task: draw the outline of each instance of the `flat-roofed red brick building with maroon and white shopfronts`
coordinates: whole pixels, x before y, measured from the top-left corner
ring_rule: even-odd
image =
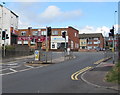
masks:
[[[66,40],[62,37],[62,32],[66,32]],[[28,45],[31,48],[46,49],[46,29],[19,29],[17,31],[18,44]],[[51,36],[47,39],[47,48],[49,50],[64,50],[65,42],[67,48],[72,50],[79,49],[79,31],[73,27],[52,28]]]

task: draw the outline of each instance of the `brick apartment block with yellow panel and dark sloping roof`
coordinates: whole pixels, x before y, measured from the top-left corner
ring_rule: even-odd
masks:
[[[80,51],[96,51],[104,48],[104,37],[102,33],[79,34]]]

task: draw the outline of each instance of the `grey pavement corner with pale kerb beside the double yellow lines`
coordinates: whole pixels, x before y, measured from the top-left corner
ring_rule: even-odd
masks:
[[[102,62],[97,65],[95,68],[84,72],[81,75],[81,79],[89,85],[93,85],[95,87],[102,87],[106,89],[117,90],[120,92],[120,85],[117,83],[111,83],[105,81],[106,74],[115,66],[110,62]]]

